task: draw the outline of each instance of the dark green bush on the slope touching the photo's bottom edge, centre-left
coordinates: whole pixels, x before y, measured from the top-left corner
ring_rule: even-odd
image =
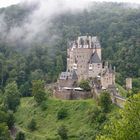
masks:
[[[59,126],[57,133],[61,137],[62,140],[68,139],[68,130],[64,125]]]

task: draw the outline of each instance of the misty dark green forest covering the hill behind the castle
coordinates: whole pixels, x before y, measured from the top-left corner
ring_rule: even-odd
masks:
[[[20,34],[37,5],[14,5],[2,8],[4,29],[0,30],[0,82],[3,87],[16,80],[18,86],[33,79],[53,82],[66,69],[69,40],[78,35],[96,35],[103,50],[103,59],[116,66],[118,82],[140,76],[140,8],[121,3],[91,3],[88,9],[65,11],[45,20],[30,41],[29,33]],[[30,25],[30,24],[29,24]],[[32,27],[30,27],[32,28]],[[13,34],[16,33],[14,36]],[[15,40],[10,40],[12,37]],[[20,38],[18,38],[20,36]],[[10,39],[9,39],[10,38]],[[13,39],[12,38],[12,39]]]

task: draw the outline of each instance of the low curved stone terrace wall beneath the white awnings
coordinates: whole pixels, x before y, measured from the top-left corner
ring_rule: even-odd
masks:
[[[78,100],[92,98],[91,92],[75,91],[75,90],[54,90],[54,97],[65,100]]]

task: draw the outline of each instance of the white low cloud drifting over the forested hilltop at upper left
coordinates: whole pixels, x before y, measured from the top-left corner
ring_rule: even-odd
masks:
[[[49,36],[49,28],[53,27],[51,19],[54,16],[70,12],[79,12],[89,7],[90,0],[22,0],[20,6],[37,5],[22,25],[12,26],[10,29],[4,22],[4,15],[0,18],[0,33],[2,38],[11,45],[16,43],[30,44],[37,40],[42,41]],[[7,32],[8,30],[8,32]],[[53,35],[52,38],[55,38]]]

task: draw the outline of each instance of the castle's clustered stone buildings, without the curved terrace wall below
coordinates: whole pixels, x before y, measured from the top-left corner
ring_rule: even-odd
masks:
[[[60,87],[73,87],[76,80],[98,78],[102,88],[115,85],[115,69],[102,61],[101,44],[98,38],[80,36],[69,43],[67,71],[59,77]]]

